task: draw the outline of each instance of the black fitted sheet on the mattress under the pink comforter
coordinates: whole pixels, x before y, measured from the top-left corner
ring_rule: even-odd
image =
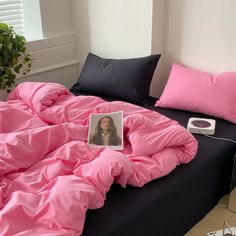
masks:
[[[155,101],[150,97],[141,105],[177,120],[184,127],[190,117],[213,118],[156,108]],[[216,120],[215,136],[236,140],[236,125],[213,119]],[[127,186],[123,189],[113,184],[105,205],[98,210],[88,210],[82,235],[183,236],[187,233],[229,192],[236,153],[236,144],[232,142],[194,136],[199,148],[193,161],[142,188]]]

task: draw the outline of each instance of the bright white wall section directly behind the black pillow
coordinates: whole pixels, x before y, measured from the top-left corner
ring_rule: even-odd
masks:
[[[151,54],[152,0],[74,0],[73,10],[81,64],[88,52],[106,58]]]

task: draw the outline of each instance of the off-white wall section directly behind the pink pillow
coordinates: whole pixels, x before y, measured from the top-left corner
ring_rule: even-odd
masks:
[[[236,71],[235,9],[235,0],[167,0],[163,79],[173,61],[209,73]]]

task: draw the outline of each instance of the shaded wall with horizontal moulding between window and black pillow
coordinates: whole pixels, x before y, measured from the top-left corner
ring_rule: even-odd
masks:
[[[57,82],[70,88],[79,76],[71,0],[40,0],[43,39],[27,42],[32,71],[20,81]]]

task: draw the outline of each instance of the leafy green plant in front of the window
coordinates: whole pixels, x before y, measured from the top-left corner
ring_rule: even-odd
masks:
[[[7,90],[16,84],[17,74],[31,70],[32,59],[26,53],[26,40],[12,26],[0,22],[0,89]]]

